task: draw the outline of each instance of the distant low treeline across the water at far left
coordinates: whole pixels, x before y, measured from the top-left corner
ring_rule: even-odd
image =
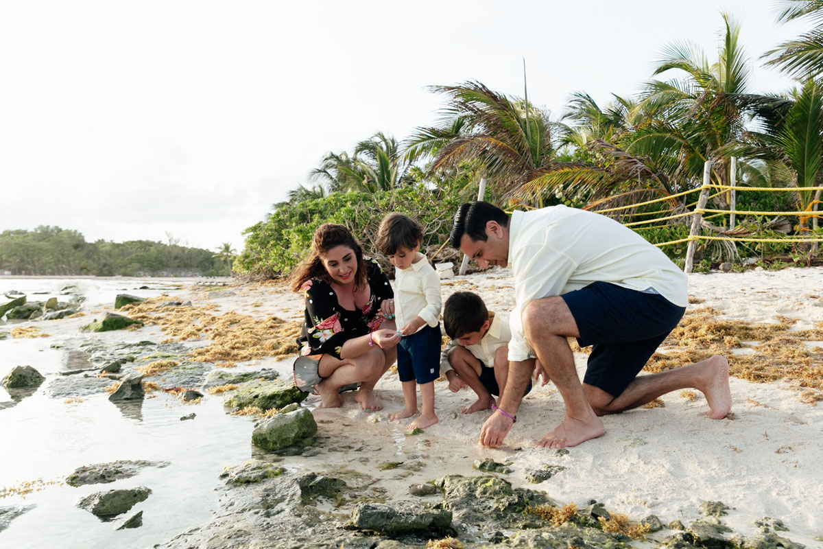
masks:
[[[207,249],[170,242],[86,242],[77,230],[39,226],[0,233],[0,274],[97,275],[99,277],[228,276],[222,258]]]

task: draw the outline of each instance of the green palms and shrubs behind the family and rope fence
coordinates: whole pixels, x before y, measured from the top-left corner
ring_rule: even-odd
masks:
[[[615,95],[602,107],[584,91],[574,92],[557,120],[523,98],[491,91],[477,81],[433,86],[446,103],[438,123],[417,128],[405,142],[376,133],[351,153],[328,152],[288,202],[273,206],[266,221],[246,231],[235,272],[249,277],[287,275],[308,252],[324,222],[347,226],[374,254],[380,219],[403,212],[424,226],[425,246],[439,246],[459,203],[472,200],[481,177],[486,200],[508,208],[563,203],[593,210],[635,205],[611,212],[635,225],[654,244],[685,239],[695,190],[711,161],[710,183],[733,180],[737,211],[808,212],[808,215],[707,215],[704,235],[783,239],[821,235],[818,208],[823,186],[823,2],[783,0],[778,21],[805,20],[815,27],[767,52],[765,64],[796,78],[788,93],[751,86],[751,58],[739,41],[740,27],[723,14],[714,54],[688,41],[661,51],[652,78],[633,97]],[[732,173],[732,158],[737,171]],[[746,192],[746,187],[786,188]],[[640,206],[656,198],[663,202]],[[727,210],[731,194],[713,191],[708,209]],[[676,218],[680,216],[679,218]],[[670,218],[671,219],[667,219]],[[741,256],[780,256],[809,264],[817,245],[735,243],[701,240],[695,270]],[[663,251],[683,263],[686,243]],[[431,250],[429,250],[431,251]],[[445,260],[441,253],[439,260]],[[774,264],[774,263],[771,263]]]

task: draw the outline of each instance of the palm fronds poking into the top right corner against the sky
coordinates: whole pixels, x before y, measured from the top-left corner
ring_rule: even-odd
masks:
[[[798,79],[816,78],[823,74],[823,1],[783,0],[778,22],[806,19],[815,27],[794,40],[783,42],[766,52],[766,65],[779,69]]]

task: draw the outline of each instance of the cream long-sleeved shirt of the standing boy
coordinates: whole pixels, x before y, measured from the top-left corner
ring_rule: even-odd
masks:
[[[432,328],[440,323],[440,306],[443,304],[440,277],[425,254],[421,256],[408,268],[394,269],[394,315],[398,329],[418,316]],[[417,332],[423,328],[425,324],[417,328]]]

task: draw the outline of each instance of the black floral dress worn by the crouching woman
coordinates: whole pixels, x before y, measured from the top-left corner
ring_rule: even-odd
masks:
[[[343,343],[380,327],[383,322],[383,318],[377,316],[380,304],[394,297],[394,292],[388,277],[374,259],[365,260],[365,270],[371,297],[360,310],[343,309],[337,303],[332,286],[319,278],[305,281],[300,287],[306,298],[303,332],[297,338],[301,355],[328,353],[339,359]]]

